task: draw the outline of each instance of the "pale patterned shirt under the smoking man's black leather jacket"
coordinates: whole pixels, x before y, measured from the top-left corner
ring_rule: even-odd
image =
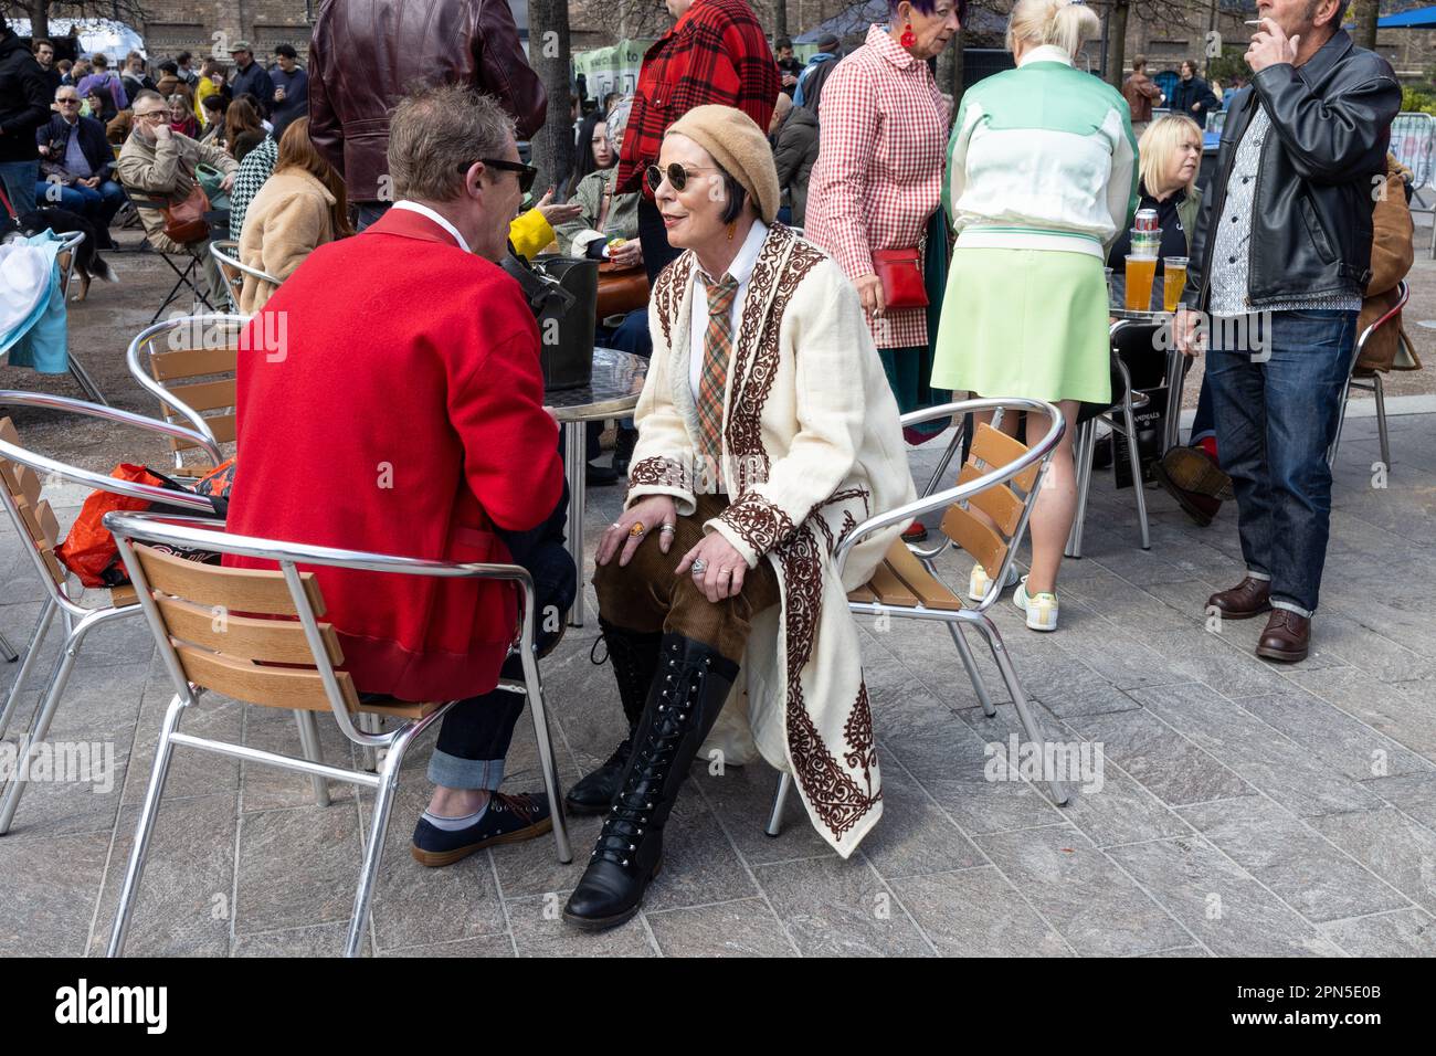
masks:
[[[1235,316],[1254,310],[1251,305],[1251,240],[1252,208],[1256,197],[1256,171],[1261,168],[1261,145],[1271,131],[1267,108],[1252,101],[1256,112],[1236,145],[1232,159],[1232,174],[1226,180],[1226,203],[1216,231],[1211,234],[1208,267],[1212,274],[1212,290],[1208,309],[1212,315]],[[1290,297],[1272,305],[1259,305],[1261,312],[1291,312],[1295,309],[1334,309],[1360,312],[1361,293],[1351,287],[1348,293],[1317,293],[1307,297]]]

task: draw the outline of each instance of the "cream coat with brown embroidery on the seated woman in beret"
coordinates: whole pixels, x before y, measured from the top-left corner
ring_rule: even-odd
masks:
[[[684,253],[649,303],[653,358],[635,420],[628,503],[672,496],[695,510],[698,409],[689,320],[698,261]],[[859,523],[916,497],[898,404],[857,292],[841,269],[774,224],[738,303],[724,401],[722,490],[709,520],[747,559],[771,563],[781,602],[754,618],[742,690],[758,751],[794,776],[813,825],[844,858],[882,816],[873,721],[847,592],[867,582],[903,526],[867,536],[839,582],[834,552]],[[709,488],[711,490],[711,488]]]

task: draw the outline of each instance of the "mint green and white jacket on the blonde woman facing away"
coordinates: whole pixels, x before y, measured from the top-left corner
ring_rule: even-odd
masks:
[[[1127,101],[1034,47],[1017,69],[962,96],[942,207],[958,247],[1088,253],[1107,249],[1137,207],[1137,141]]]

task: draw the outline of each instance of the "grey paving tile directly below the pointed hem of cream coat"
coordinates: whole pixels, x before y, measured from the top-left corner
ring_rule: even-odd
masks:
[[[754,872],[804,957],[932,954],[867,862],[823,858]]]

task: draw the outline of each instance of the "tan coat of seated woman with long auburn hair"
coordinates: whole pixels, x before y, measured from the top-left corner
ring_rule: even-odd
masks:
[[[244,213],[240,261],[284,282],[310,253],[335,240],[333,205],[335,195],[306,170],[274,172]],[[276,289],[246,274],[240,312],[258,312]]]

